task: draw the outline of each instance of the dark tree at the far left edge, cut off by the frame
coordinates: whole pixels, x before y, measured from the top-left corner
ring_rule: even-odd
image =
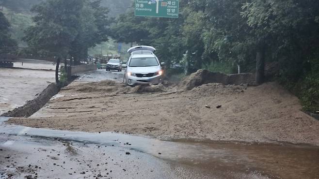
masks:
[[[10,24],[2,12],[0,12],[0,54],[8,53],[16,47],[16,41],[11,38]]]

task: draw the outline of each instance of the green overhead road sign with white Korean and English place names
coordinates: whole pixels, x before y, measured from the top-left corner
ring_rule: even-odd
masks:
[[[135,0],[135,15],[178,17],[179,0]]]

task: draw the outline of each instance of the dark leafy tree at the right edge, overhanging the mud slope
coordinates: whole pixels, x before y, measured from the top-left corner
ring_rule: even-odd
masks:
[[[267,37],[280,82],[299,95],[305,110],[318,111],[318,0],[253,0],[243,8],[255,34]]]

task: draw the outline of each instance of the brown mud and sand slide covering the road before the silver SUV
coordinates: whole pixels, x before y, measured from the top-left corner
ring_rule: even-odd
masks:
[[[258,87],[211,83],[183,90],[174,85],[129,87],[119,83],[122,80],[123,72],[85,73],[30,118],[9,122],[160,138],[284,141],[319,146],[319,121],[303,113],[298,98],[276,83]]]

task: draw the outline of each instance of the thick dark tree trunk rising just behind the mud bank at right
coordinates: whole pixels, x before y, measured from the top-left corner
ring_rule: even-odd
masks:
[[[256,53],[256,85],[260,85],[264,82],[265,78],[265,45],[257,47]]]

